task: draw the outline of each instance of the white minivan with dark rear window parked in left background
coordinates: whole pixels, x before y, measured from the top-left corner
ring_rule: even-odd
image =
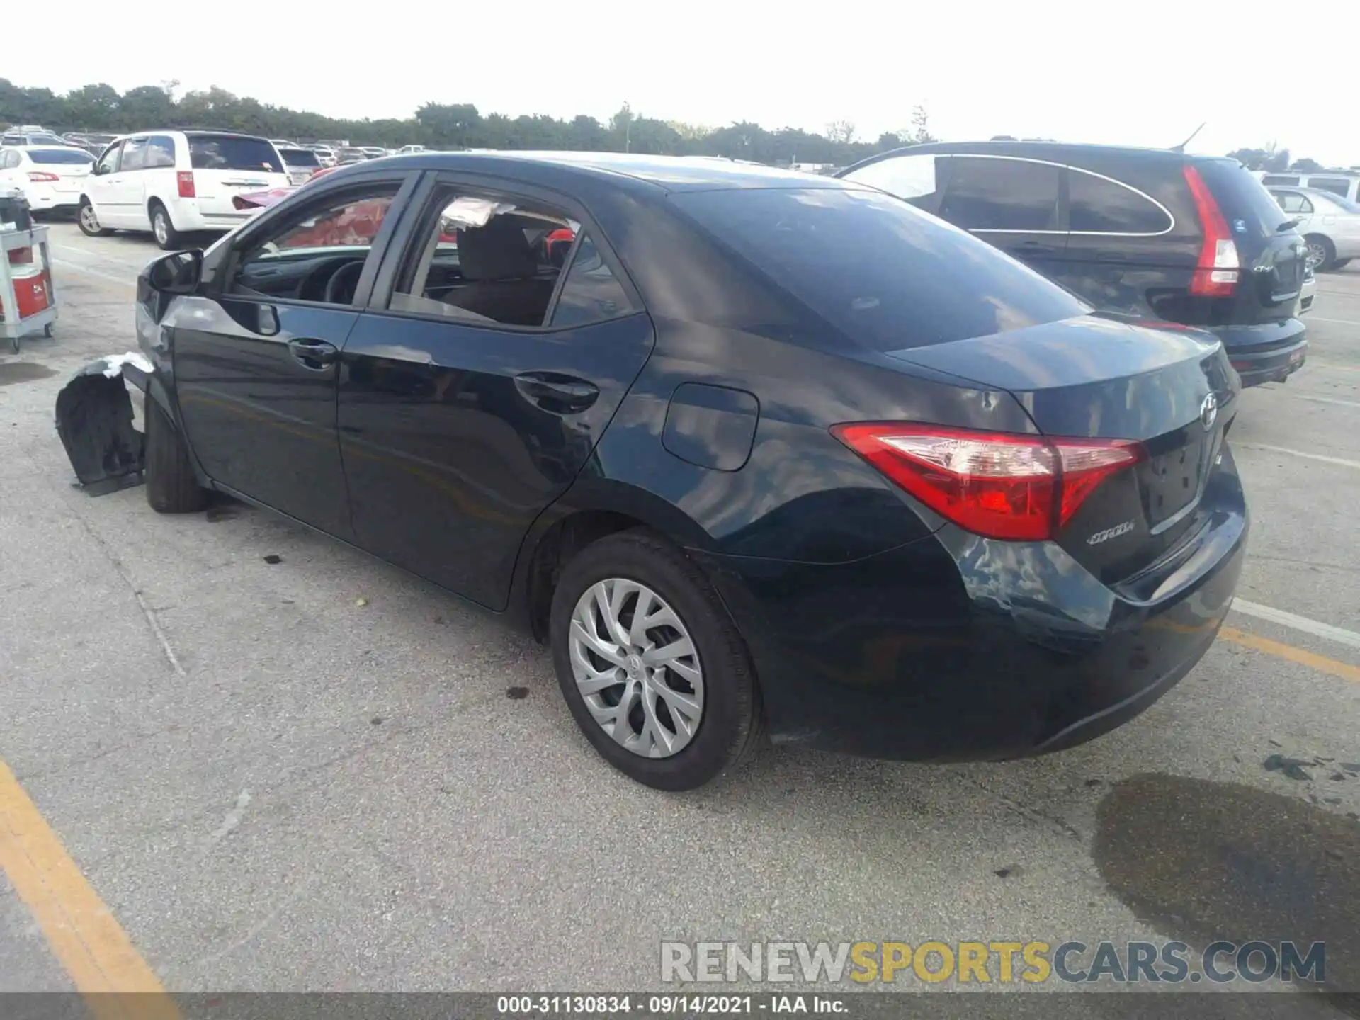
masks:
[[[235,230],[258,212],[238,208],[238,194],[287,186],[268,139],[222,131],[125,135],[86,178],[78,222],[90,237],[147,231],[169,250],[181,246],[181,234]]]

